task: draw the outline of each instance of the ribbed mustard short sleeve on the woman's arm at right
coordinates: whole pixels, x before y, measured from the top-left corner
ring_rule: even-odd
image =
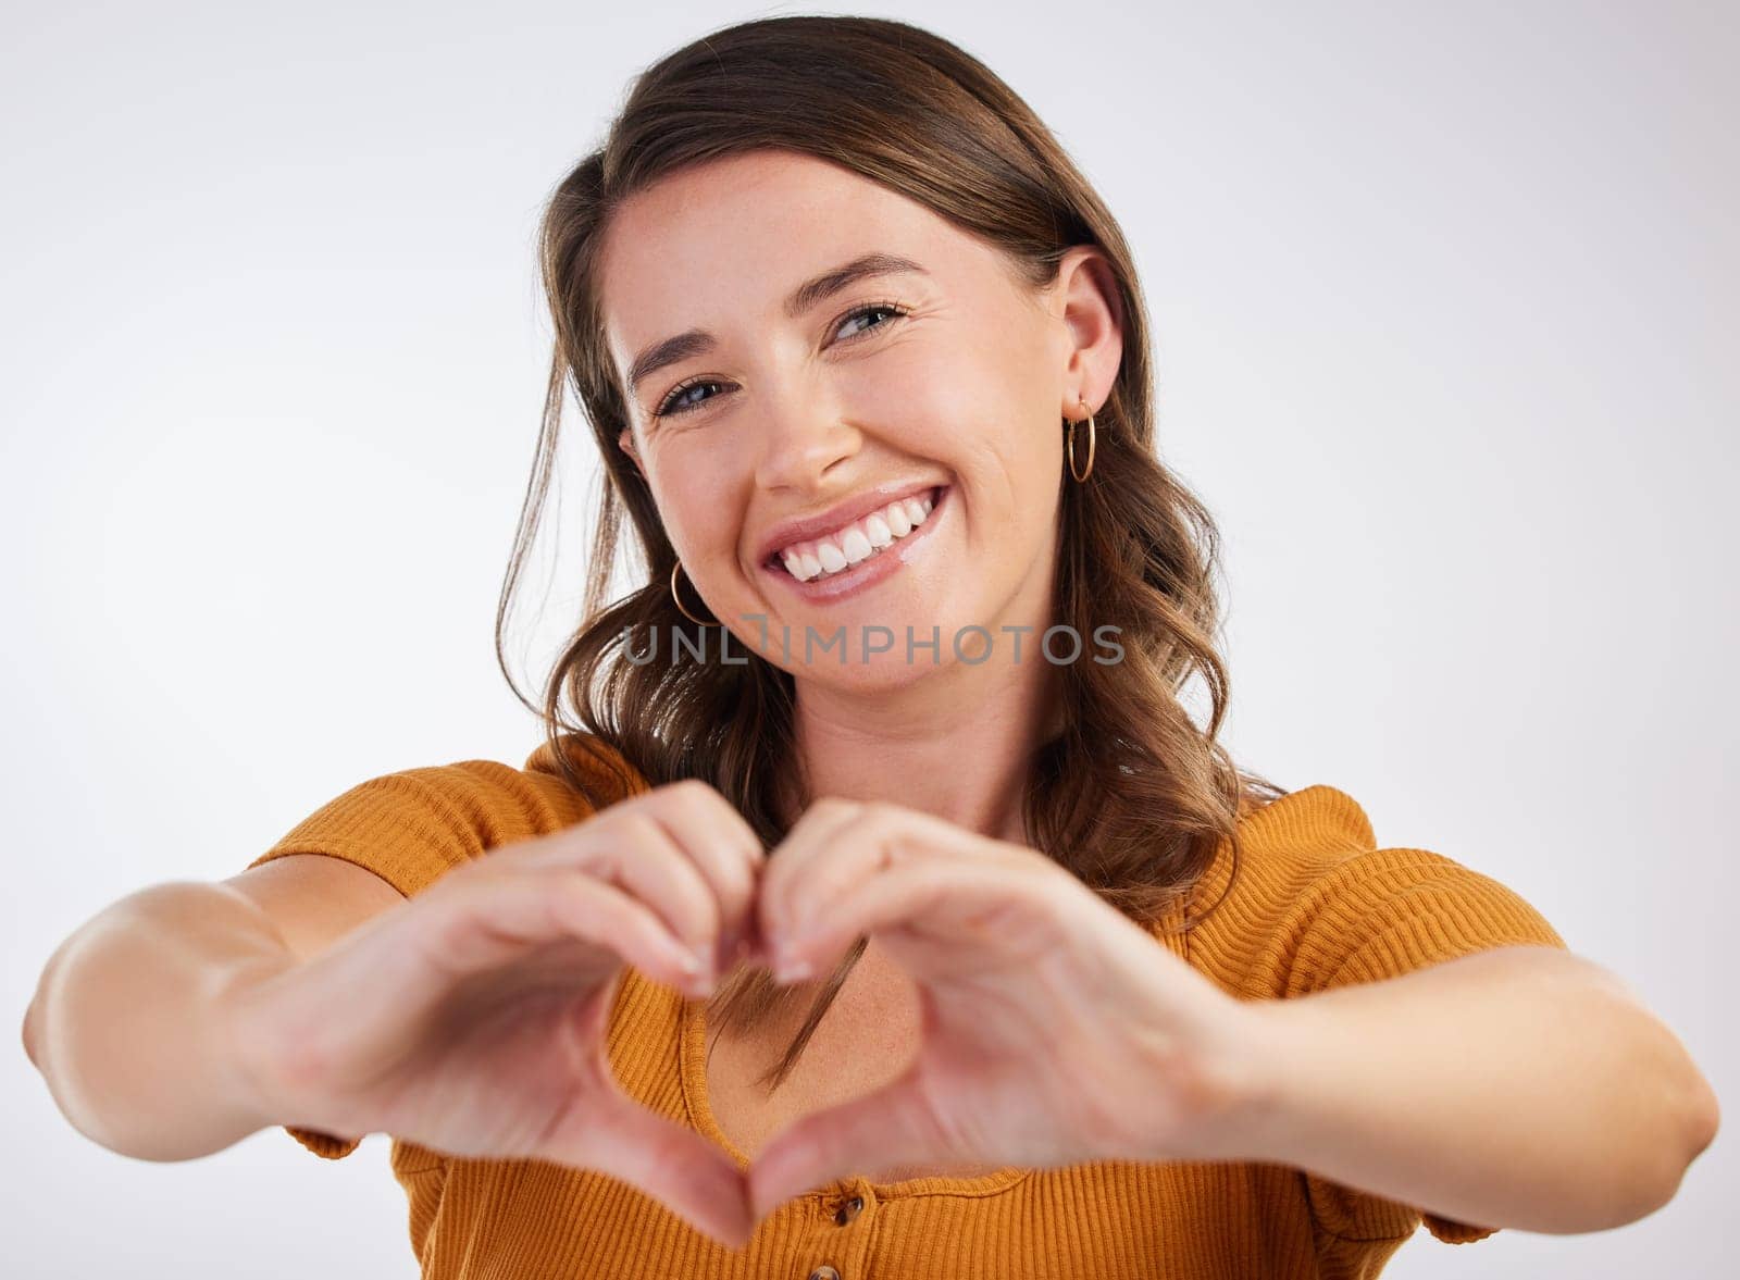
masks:
[[[1568,950],[1521,894],[1442,854],[1373,849],[1336,864],[1305,896],[1288,995],[1378,983],[1502,946]],[[1394,1240],[1422,1223],[1446,1243],[1498,1231],[1302,1172],[1319,1228],[1342,1240]]]

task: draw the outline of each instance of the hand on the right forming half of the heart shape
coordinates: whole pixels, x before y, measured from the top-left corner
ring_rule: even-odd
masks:
[[[826,798],[769,856],[757,910],[776,970],[826,972],[872,934],[922,1010],[901,1077],[757,1153],[757,1221],[905,1163],[1213,1158],[1246,1097],[1255,1012],[1023,845]]]

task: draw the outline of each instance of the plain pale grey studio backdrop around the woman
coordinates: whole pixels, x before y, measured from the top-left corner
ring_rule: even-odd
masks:
[[[541,202],[640,66],[800,10],[5,9],[7,1026],[113,899],[365,777],[524,760],[491,626]],[[856,12],[988,61],[1122,219],[1161,449],[1225,534],[1234,751],[1517,889],[1740,1104],[1735,7]],[[578,602],[566,466],[531,664]],[[416,1273],[385,1136],[139,1162],[10,1043],[7,1275]],[[1420,1231],[1389,1275],[1726,1275],[1733,1150],[1632,1226]]]

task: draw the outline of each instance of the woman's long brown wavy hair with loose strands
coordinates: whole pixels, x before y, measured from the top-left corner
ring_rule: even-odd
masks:
[[[844,165],[919,202],[1007,254],[1035,290],[1054,280],[1072,245],[1098,245],[1108,257],[1124,355],[1096,414],[1089,482],[1060,473],[1054,616],[1077,635],[1114,619],[1124,659],[1058,670],[1063,730],[1034,750],[1023,821],[1034,849],[1133,920],[1152,927],[1173,908],[1188,908],[1221,840],[1237,873],[1239,817],[1286,791],[1242,772],[1216,741],[1228,697],[1216,650],[1218,534],[1202,503],[1155,457],[1148,320],[1129,245],[1032,108],[983,63],[907,23],[783,16],[712,31],[633,80],[604,144],[553,191],[539,256],[555,350],[496,614],[496,657],[510,687],[541,717],[564,777],[595,803],[614,797],[597,795],[593,774],[567,757],[576,746],[599,755],[586,746],[588,734],[651,786],[710,783],[769,849],[785,837],[781,814],[793,812],[781,788],[799,788],[799,810],[809,800],[797,772],[786,671],[753,649],[743,664],[626,657],[628,637],[647,628],[666,637],[682,630],[696,645],[705,637],[672,598],[675,551],[649,487],[616,445],[630,423],[628,398],[604,343],[597,292],[597,254],[623,200],[686,165],[759,148]],[[583,621],[534,704],[508,671],[503,633],[545,508],[567,386],[592,424],[606,490]],[[646,584],[607,602],[625,511]],[[1202,677],[1211,697],[1206,729],[1181,701],[1192,675]],[[616,774],[625,788],[635,784]],[[781,783],[792,777],[799,781]],[[1206,915],[1185,911],[1181,929]],[[764,1085],[776,1089],[790,1073],[865,943],[860,937],[821,981]],[[708,1021],[720,1030],[783,1021],[800,995],[764,969],[740,965],[710,998]]]

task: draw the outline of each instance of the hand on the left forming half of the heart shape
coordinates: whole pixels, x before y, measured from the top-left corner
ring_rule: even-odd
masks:
[[[235,991],[228,1035],[256,1113],[604,1170],[740,1245],[752,1219],[738,1167],[621,1090],[606,1030],[625,960],[710,990],[684,963],[724,967],[762,861],[748,823],[703,783],[494,849]]]

